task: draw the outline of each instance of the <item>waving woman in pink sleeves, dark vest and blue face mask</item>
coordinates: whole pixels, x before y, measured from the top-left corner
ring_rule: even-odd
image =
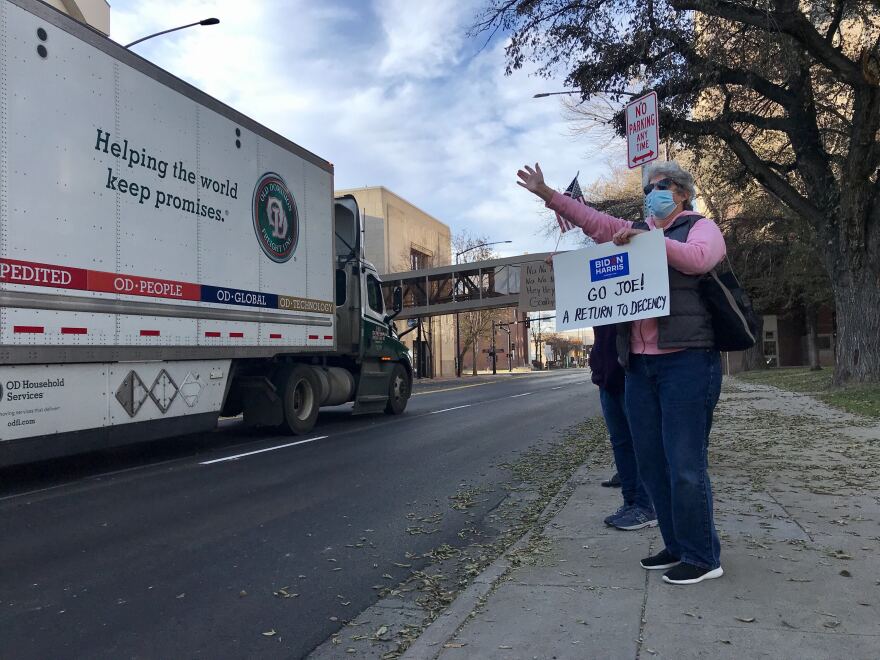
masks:
[[[724,237],[693,212],[694,178],[678,163],[654,162],[642,172],[645,223],[601,213],[555,192],[535,163],[517,183],[597,243],[624,245],[648,230],[664,232],[670,313],[618,324],[618,355],[626,368],[626,408],[639,474],[654,503],[666,547],[641,561],[666,570],[671,584],[721,577],[708,442],[721,393],[721,359],[699,280],[724,258]]]

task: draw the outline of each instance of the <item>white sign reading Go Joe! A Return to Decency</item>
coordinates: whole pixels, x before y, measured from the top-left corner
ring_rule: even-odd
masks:
[[[602,243],[553,257],[556,329],[669,315],[666,240],[659,229],[627,245]]]

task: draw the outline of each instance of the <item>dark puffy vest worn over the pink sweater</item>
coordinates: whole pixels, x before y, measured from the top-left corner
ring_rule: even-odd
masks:
[[[698,213],[682,214],[664,231],[664,236],[685,243],[691,227],[702,218]],[[636,222],[633,229],[650,227]],[[669,268],[669,316],[657,319],[658,348],[715,347],[712,316],[700,295],[702,277]],[[624,367],[629,366],[631,334],[632,322],[617,324],[617,358]]]

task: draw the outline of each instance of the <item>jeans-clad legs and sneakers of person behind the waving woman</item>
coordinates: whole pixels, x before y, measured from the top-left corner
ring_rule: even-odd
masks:
[[[617,529],[633,530],[654,527],[657,516],[645,485],[639,477],[636,454],[633,449],[629,422],[624,405],[623,367],[617,360],[617,328],[602,325],[593,328],[593,346],[590,348],[592,381],[599,386],[602,415],[608,426],[614,464],[620,478],[623,506],[605,518],[605,524]]]

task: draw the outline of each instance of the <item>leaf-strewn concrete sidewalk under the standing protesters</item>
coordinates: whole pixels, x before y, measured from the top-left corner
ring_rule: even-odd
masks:
[[[725,379],[710,460],[721,579],[641,569],[659,532],[606,528],[619,491],[583,467],[403,657],[880,657],[880,424]]]

